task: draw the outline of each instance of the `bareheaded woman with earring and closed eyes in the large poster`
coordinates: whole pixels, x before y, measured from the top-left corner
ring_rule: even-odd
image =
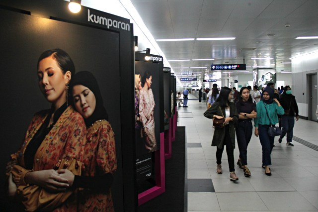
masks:
[[[74,74],[72,59],[61,49],[47,50],[38,59],[39,87],[52,107],[33,116],[6,173],[9,196],[17,197],[26,211],[76,211],[75,189],[56,171],[80,175],[83,168],[86,127],[67,100]]]

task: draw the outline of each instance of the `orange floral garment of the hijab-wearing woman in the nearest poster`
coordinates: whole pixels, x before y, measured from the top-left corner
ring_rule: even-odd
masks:
[[[106,120],[95,121],[87,128],[87,144],[84,150],[84,176],[113,174],[117,169],[115,135]],[[90,189],[79,192],[80,212],[113,212],[111,191],[103,193]]]

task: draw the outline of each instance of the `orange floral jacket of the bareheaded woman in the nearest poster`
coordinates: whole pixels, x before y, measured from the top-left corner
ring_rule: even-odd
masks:
[[[49,110],[41,111],[34,115],[20,151],[11,155],[18,164],[13,166],[11,172],[17,185],[17,195],[21,197],[26,211],[77,211],[75,190],[51,193],[24,182],[24,176],[29,171],[69,169],[73,174],[81,175],[86,127],[82,116],[72,106],[62,113],[39,146],[34,157],[33,170],[23,168],[26,147],[44,123],[48,112]]]

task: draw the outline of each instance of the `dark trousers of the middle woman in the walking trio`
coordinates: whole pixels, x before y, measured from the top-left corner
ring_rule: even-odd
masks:
[[[247,146],[253,133],[251,120],[239,120],[238,126],[236,127],[236,133],[239,146],[239,158],[242,165],[247,165]]]

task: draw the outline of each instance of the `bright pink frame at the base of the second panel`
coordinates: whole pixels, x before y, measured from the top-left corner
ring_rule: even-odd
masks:
[[[165,192],[164,132],[160,132],[160,149],[155,152],[156,186],[138,194],[138,206]]]

